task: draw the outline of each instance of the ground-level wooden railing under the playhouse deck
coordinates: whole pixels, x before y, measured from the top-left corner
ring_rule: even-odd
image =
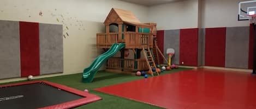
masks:
[[[136,67],[135,67],[135,62]],[[123,63],[123,67],[122,67]],[[120,57],[112,57],[106,64],[108,69],[124,69],[124,70],[147,70],[147,63],[145,59],[121,59]]]

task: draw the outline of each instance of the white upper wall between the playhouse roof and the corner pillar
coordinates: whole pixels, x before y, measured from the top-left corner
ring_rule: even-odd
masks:
[[[197,28],[198,0],[156,5],[149,8],[148,15],[158,30]]]

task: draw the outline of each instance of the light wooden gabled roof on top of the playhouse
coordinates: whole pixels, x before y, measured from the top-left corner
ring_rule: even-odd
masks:
[[[136,18],[131,11],[112,8],[111,11],[109,12],[108,17],[106,17],[106,20],[104,23],[118,22],[118,21],[129,22],[133,24],[140,23],[138,18]]]

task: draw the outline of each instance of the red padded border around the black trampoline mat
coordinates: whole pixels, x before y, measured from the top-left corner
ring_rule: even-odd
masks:
[[[22,83],[19,83],[19,84],[0,85],[0,87],[20,86],[20,85],[35,84],[35,83],[41,83],[41,82],[44,82],[45,84],[53,86],[55,88],[62,89],[63,91],[67,91],[69,93],[80,95],[80,96],[85,97],[85,98],[64,102],[62,104],[42,107],[40,109],[73,108],[73,107],[89,104],[90,102],[94,102],[94,101],[98,101],[98,100],[102,99],[102,98],[98,97],[97,95],[86,93],[86,92],[80,91],[78,89],[74,89],[74,88],[67,87],[67,86],[64,86],[64,85],[55,84],[55,83],[48,82],[48,81],[29,81],[29,82],[22,82]]]

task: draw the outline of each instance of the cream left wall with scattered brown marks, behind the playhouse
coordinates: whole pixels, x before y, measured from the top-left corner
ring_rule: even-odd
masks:
[[[63,39],[63,74],[73,74],[81,73],[103,52],[96,48],[96,33],[105,32],[103,22],[111,8],[130,10],[141,22],[148,22],[147,7],[116,0],[1,0],[0,20],[63,24],[63,34],[69,34]]]

